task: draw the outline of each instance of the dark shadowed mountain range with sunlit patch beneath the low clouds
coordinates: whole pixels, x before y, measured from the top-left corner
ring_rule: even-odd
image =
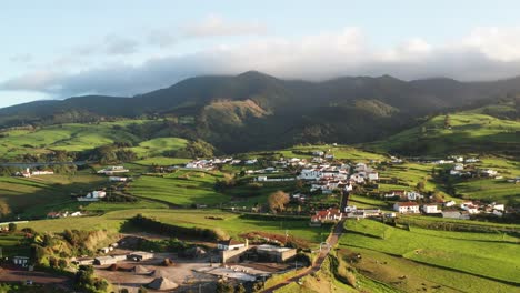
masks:
[[[249,71],[191,78],[133,98],[89,95],[0,109],[0,127],[167,118],[171,123],[149,131],[148,139],[202,139],[231,153],[297,143],[373,141],[414,125],[423,115],[493,103],[517,93],[519,78],[459,82],[382,75],[309,82]],[[513,108],[507,118],[517,113]]]

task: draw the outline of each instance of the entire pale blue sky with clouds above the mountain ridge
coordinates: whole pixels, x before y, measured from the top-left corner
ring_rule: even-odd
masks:
[[[203,74],[520,75],[520,1],[6,0],[0,107]]]

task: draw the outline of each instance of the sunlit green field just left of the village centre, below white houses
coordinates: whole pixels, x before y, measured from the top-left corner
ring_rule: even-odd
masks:
[[[230,196],[216,192],[214,182],[222,178],[219,172],[179,170],[164,176],[142,175],[130,185],[130,193],[179,205],[226,203]]]

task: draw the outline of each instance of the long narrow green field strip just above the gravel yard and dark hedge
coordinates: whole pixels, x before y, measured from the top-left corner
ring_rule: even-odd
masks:
[[[231,236],[238,236],[247,232],[268,232],[284,235],[286,230],[289,235],[302,239],[310,243],[319,243],[329,233],[327,228],[309,228],[307,220],[291,221],[269,221],[252,220],[241,218],[239,214],[223,212],[219,210],[119,210],[108,212],[103,215],[83,218],[63,218],[56,220],[31,221],[27,224],[19,224],[19,228],[30,226],[40,232],[61,232],[64,229],[78,230],[108,230],[119,232],[123,222],[137,214],[151,216],[164,223],[182,226],[198,228],[220,228]],[[209,220],[207,216],[222,218],[223,220]]]

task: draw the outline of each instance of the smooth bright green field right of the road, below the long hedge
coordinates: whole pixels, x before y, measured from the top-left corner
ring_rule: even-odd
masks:
[[[416,228],[406,231],[371,220],[348,221],[346,229],[348,232],[340,241],[344,247],[520,284],[518,238]]]

